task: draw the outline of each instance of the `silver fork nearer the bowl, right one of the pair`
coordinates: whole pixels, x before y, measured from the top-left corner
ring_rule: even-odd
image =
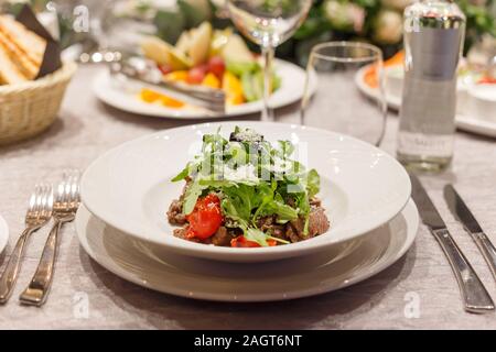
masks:
[[[22,304],[42,306],[46,300],[53,280],[58,232],[64,223],[74,220],[79,207],[79,176],[78,170],[67,170],[57,185],[53,205],[54,224],[46,239],[36,272],[19,297]]]

